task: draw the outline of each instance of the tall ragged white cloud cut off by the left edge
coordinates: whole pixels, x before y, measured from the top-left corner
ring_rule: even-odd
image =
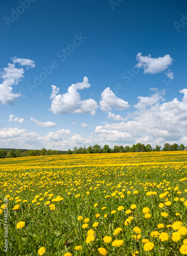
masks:
[[[16,68],[15,64],[18,63],[21,66],[27,66],[34,68],[34,61],[31,59],[20,59],[14,57],[12,59],[13,63],[8,63],[7,68],[3,68],[3,72],[1,73],[1,78],[4,80],[2,84],[0,84],[0,101],[2,104],[11,105],[13,104],[18,97],[21,96],[20,92],[13,93],[12,86],[14,84],[18,84],[18,82],[24,78],[24,69]]]

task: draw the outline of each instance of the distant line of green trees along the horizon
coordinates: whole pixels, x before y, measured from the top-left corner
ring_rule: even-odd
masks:
[[[144,145],[141,143],[133,144],[130,146],[118,146],[115,145],[110,148],[108,145],[101,147],[96,144],[94,146],[88,147],[74,147],[73,150],[70,148],[67,151],[58,150],[46,150],[42,148],[41,150],[20,150],[16,148],[0,148],[0,158],[12,158],[12,157],[29,157],[29,156],[52,156],[52,155],[71,155],[71,154],[97,154],[97,153],[128,153],[128,152],[151,152],[151,151],[183,151],[187,150],[187,146],[183,144],[173,144],[165,143],[163,148],[156,145],[152,148],[150,144]]]

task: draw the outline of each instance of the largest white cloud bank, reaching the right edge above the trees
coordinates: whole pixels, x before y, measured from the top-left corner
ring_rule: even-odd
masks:
[[[174,98],[169,102],[157,102],[149,109],[138,109],[132,120],[107,123],[104,129],[125,131],[135,138],[150,136],[154,141],[179,140],[186,134],[187,89],[179,92],[184,94],[182,101]]]

